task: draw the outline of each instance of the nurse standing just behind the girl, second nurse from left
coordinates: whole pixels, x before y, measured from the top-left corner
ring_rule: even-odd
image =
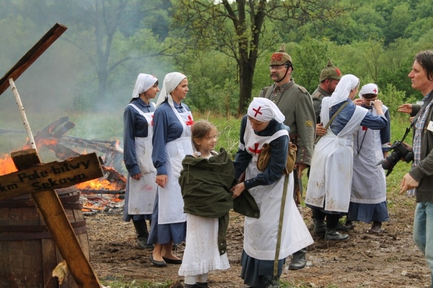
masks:
[[[150,260],[159,267],[182,263],[173,255],[172,246],[184,241],[186,236],[187,218],[183,213],[178,178],[183,158],[193,154],[191,126],[194,120],[189,107],[181,103],[188,91],[185,75],[167,74],[153,117],[152,161],[157,169],[154,181],[158,184],[158,192],[148,243],[155,245]]]

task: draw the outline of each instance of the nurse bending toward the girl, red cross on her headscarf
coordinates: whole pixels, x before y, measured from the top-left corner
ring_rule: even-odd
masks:
[[[245,181],[232,188],[233,197],[248,189],[260,209],[260,218],[245,217],[244,220],[241,277],[251,287],[277,287],[273,265],[290,130],[283,124],[284,120],[275,103],[260,97],[253,99],[248,114],[241,121],[239,148],[233,163],[235,177],[239,179],[245,172]],[[257,159],[265,143],[270,145],[271,156],[266,169],[260,171]],[[287,191],[293,191],[292,173],[288,177]],[[312,243],[310,232],[289,193],[285,202],[276,277],[280,277],[287,256]]]

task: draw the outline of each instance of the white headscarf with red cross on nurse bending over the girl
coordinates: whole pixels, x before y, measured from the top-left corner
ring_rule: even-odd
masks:
[[[277,122],[283,123],[286,119],[274,102],[262,97],[253,98],[248,107],[248,116],[260,122],[268,122],[275,119]]]

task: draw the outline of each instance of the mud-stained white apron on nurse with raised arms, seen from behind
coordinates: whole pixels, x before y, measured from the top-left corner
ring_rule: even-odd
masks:
[[[320,119],[329,122],[331,97],[322,100]],[[367,114],[363,107],[355,105],[355,112],[338,135],[330,128],[314,147],[305,203],[327,211],[349,210],[353,167],[353,132]],[[325,204],[325,205],[323,205]]]

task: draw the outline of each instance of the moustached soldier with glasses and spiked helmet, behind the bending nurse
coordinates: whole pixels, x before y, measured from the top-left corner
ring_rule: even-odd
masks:
[[[270,78],[274,83],[260,91],[260,97],[272,100],[286,117],[284,124],[290,127],[290,141],[297,146],[297,157],[293,176],[296,204],[301,203],[301,173],[310,166],[313,155],[316,120],[310,93],[291,78],[292,57],[286,53],[284,44],[280,51],[273,53],[269,62]],[[302,269],[306,265],[306,248],[293,254],[289,269]]]

